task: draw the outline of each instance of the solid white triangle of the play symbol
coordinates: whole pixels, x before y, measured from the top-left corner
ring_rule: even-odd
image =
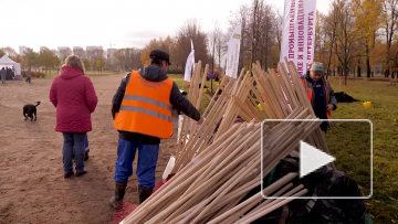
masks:
[[[300,178],[335,161],[336,158],[321,151],[320,149],[300,141]]]

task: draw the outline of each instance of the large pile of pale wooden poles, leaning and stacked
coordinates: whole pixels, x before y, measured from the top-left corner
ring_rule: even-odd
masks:
[[[297,173],[290,173],[242,201],[281,159],[298,150],[301,139],[327,151],[321,122],[304,121],[316,117],[294,65],[286,65],[291,76],[281,63],[277,73],[264,72],[253,64],[251,72],[243,70],[237,79],[224,77],[203,114],[205,122],[200,127],[193,124],[188,143],[181,139],[178,145],[175,177],[123,223],[250,223],[293,200],[264,200],[263,195],[306,194],[303,185],[291,183]],[[202,93],[195,85],[199,82],[200,66],[201,63],[196,66],[189,90],[196,106],[200,105],[199,92]],[[222,94],[218,95],[220,89]],[[248,122],[234,124],[238,116]],[[302,121],[261,126],[266,118]],[[184,122],[188,124],[188,119]]]

